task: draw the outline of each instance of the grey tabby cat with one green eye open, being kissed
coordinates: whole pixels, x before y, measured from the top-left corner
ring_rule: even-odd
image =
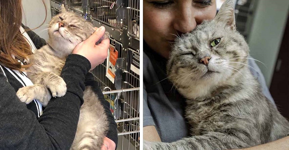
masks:
[[[191,137],[173,143],[144,142],[144,149],[240,149],[288,134],[289,122],[250,73],[249,47],[236,31],[232,1],[222,5],[214,20],[203,21],[175,42],[167,74],[187,99]]]

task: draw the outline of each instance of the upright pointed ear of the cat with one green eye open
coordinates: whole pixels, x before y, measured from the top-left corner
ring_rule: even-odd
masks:
[[[221,6],[214,20],[225,22],[232,30],[236,30],[234,3],[232,0],[227,0]]]

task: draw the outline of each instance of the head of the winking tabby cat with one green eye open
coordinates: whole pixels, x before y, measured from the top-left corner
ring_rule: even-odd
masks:
[[[236,31],[231,0],[223,3],[213,20],[204,20],[175,42],[167,74],[177,88],[216,85],[233,78],[247,65],[244,58],[248,57],[249,47]]]

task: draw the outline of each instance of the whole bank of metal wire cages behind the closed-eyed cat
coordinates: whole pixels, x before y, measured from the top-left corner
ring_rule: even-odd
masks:
[[[118,129],[117,149],[139,150],[139,0],[51,0],[52,16],[60,13],[61,4],[110,33],[110,44],[118,50],[122,64],[121,84],[116,86],[106,76],[107,59],[91,72],[110,102]]]

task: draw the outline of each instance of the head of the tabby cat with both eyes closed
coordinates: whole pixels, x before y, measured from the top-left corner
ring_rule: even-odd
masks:
[[[69,54],[77,44],[86,40],[94,32],[95,28],[92,23],[73,12],[66,11],[62,4],[61,13],[54,16],[49,23],[49,44],[53,48]],[[108,37],[109,33],[105,32],[96,44]]]

